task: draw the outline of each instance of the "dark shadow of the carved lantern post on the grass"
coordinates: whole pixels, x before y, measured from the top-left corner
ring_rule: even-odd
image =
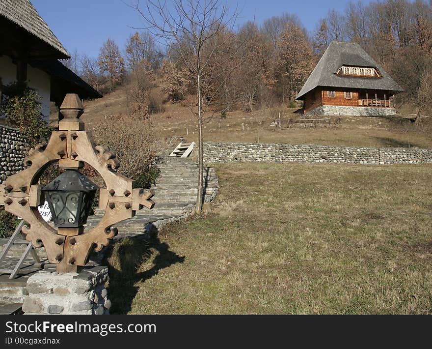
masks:
[[[150,269],[138,271],[143,262],[152,258],[153,266]],[[145,282],[160,270],[184,261],[185,257],[170,251],[169,245],[161,242],[157,233],[151,237],[143,234],[118,241],[104,260],[109,273],[108,295],[112,299],[110,313],[126,314],[131,311],[139,290],[139,286],[135,285],[137,282]]]

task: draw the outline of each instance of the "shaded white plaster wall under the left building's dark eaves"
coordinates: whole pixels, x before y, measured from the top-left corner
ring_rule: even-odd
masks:
[[[17,66],[8,56],[0,57],[0,78],[2,85],[16,82]],[[50,117],[51,77],[44,71],[27,64],[27,86],[37,90],[41,96],[41,113],[48,121]]]

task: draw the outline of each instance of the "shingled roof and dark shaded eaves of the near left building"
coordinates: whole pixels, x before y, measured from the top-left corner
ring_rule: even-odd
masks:
[[[58,60],[70,56],[29,0],[0,0],[0,43],[0,96],[10,84],[33,88],[47,119],[50,102],[60,105],[66,93],[102,97]]]

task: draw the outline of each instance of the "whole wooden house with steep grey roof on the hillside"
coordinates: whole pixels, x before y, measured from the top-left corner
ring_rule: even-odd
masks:
[[[396,114],[403,89],[358,44],[332,41],[297,94],[305,115]]]

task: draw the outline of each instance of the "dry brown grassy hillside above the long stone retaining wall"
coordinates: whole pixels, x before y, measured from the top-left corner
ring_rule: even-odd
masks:
[[[173,136],[188,141],[197,140],[197,130],[189,108],[179,103],[163,104],[164,112],[151,116],[153,128],[163,141]],[[338,116],[330,120],[309,122],[305,126],[296,108],[280,107],[252,113],[230,112],[225,118],[220,113],[204,127],[205,141],[291,143],[346,146],[402,146],[432,147],[432,117],[425,117],[421,125],[413,125],[415,110],[403,106],[404,116],[353,117]],[[281,129],[270,126],[281,113]],[[127,98],[123,89],[104,98],[85,103],[82,119],[92,122],[118,114],[127,115]],[[291,120],[291,121],[290,121]],[[315,127],[316,123],[316,127]],[[243,130],[243,126],[244,130]],[[290,126],[290,127],[288,127]],[[189,134],[188,134],[189,133]]]

